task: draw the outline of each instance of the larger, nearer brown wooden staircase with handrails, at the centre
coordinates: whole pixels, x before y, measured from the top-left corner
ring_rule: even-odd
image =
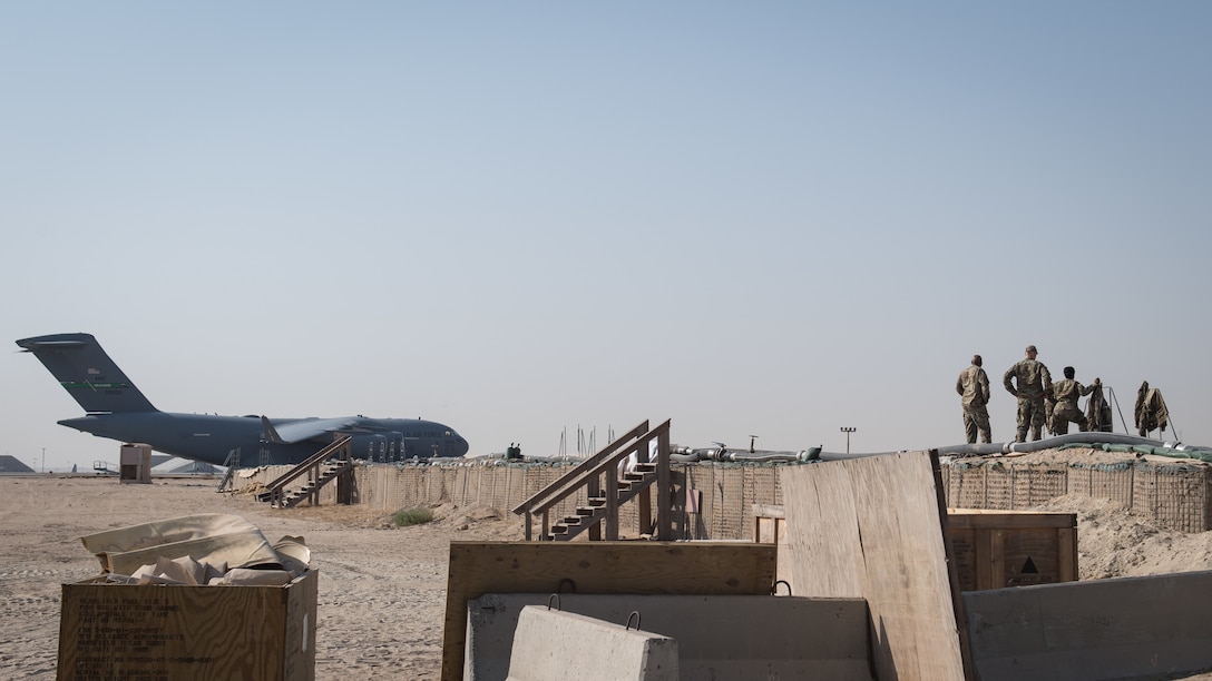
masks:
[[[621,464],[631,456],[635,457],[635,465],[625,469]],[[656,525],[652,523],[653,486],[657,488]],[[574,515],[551,523],[550,513],[554,507],[582,491],[585,493],[585,505],[577,507]],[[585,531],[589,532],[590,540],[617,540],[619,508],[635,499],[639,533],[668,542],[673,538],[670,494],[669,422],[650,430],[648,422],[645,420],[513,511],[526,516],[526,540],[534,538],[534,516],[539,516],[542,521],[538,533],[541,542],[566,542]]]

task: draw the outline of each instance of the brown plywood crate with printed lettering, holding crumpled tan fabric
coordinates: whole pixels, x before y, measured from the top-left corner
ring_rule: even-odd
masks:
[[[57,679],[315,679],[316,571],[284,586],[63,585]]]

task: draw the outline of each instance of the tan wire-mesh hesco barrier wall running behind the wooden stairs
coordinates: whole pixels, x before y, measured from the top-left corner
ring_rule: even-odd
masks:
[[[354,503],[388,513],[446,503],[486,505],[509,513],[574,463],[364,464],[354,471]],[[674,464],[674,537],[753,539],[753,504],[783,504],[779,473],[785,468],[787,464]],[[236,483],[264,483],[284,470],[285,467],[270,467],[250,479],[236,479]],[[951,508],[1025,510],[1057,497],[1077,494],[1111,499],[1171,530],[1212,530],[1212,467],[1196,463],[1137,460],[1067,467],[955,460],[942,465],[942,476],[947,504]],[[321,490],[320,503],[336,503],[333,485]],[[553,510],[551,521],[572,515],[584,503],[583,494],[570,498]],[[636,522],[635,503],[625,504],[619,513],[619,531],[635,537],[640,533]]]

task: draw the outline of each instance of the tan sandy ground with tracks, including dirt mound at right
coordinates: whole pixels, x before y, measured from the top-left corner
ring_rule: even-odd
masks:
[[[1068,454],[1094,456],[1094,454]],[[0,477],[0,677],[53,679],[61,584],[99,573],[79,538],[193,513],[246,517],[274,542],[302,536],[319,568],[316,677],[438,679],[451,539],[522,538],[497,509],[434,509],[393,527],[364,507],[278,511],[215,480],[121,485],[98,477]],[[1082,579],[1212,570],[1212,532],[1183,534],[1115,505],[1062,497],[1039,508],[1076,513]],[[1212,676],[1200,676],[1200,679]]]

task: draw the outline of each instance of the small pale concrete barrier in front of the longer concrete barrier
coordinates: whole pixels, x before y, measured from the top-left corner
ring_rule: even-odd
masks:
[[[678,641],[545,606],[518,619],[508,681],[678,681]]]

